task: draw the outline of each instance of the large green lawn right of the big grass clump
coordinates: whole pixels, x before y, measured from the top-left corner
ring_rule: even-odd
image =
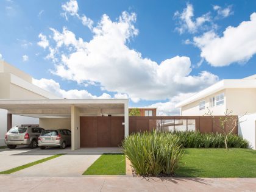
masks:
[[[185,149],[177,177],[256,177],[251,149]]]

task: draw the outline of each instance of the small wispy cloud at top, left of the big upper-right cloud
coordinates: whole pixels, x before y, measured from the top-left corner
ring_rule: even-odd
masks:
[[[210,13],[194,18],[193,5],[189,3],[187,4],[187,7],[183,9],[182,13],[178,11],[174,13],[174,18],[180,20],[179,27],[176,27],[180,34],[183,34],[186,31],[194,34],[199,28],[205,27],[204,24],[206,22],[211,21]]]

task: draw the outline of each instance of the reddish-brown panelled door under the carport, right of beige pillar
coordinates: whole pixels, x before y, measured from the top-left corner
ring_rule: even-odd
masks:
[[[123,116],[80,116],[80,147],[118,147],[124,139]]]

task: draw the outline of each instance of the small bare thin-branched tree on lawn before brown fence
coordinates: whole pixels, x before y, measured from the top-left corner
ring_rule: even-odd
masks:
[[[205,115],[211,116],[213,118],[213,124],[217,126],[219,129],[221,129],[222,133],[225,135],[225,146],[227,151],[229,151],[229,148],[227,147],[227,141],[228,141],[228,136],[233,132],[236,126],[238,126],[238,121],[246,115],[246,113],[240,117],[232,115],[233,111],[229,109],[224,112],[224,117],[219,118],[219,124],[215,123],[215,116],[213,116],[213,112],[207,107],[208,112],[205,113]],[[245,121],[245,120],[244,120]],[[240,123],[243,121],[240,121]]]

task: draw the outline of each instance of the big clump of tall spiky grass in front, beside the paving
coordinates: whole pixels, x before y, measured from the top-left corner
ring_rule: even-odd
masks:
[[[135,174],[140,176],[171,176],[182,157],[179,137],[163,132],[135,133],[123,141]]]

